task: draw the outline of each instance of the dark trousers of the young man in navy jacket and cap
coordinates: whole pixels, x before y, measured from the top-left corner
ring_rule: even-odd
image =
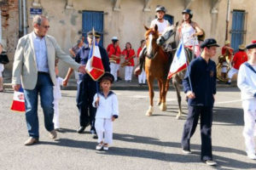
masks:
[[[212,107],[191,106],[183,128],[182,148],[190,150],[190,138],[195,133],[195,128],[201,116],[201,160],[212,160]]]

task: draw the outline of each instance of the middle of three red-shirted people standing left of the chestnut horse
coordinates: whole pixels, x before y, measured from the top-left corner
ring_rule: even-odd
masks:
[[[128,63],[128,65],[125,65],[125,82],[131,82],[132,70],[134,67],[133,58],[135,58],[136,55],[134,49],[131,48],[130,42],[125,43],[125,49],[122,54],[125,55],[125,63]]]

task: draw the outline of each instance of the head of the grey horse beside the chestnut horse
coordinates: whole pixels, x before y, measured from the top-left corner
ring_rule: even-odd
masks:
[[[161,46],[164,43],[166,43],[166,41],[168,41],[169,43],[176,42],[175,36],[176,36],[177,26],[178,26],[178,22],[176,23],[175,26],[174,25],[168,26],[166,28],[166,31],[164,31],[164,33],[157,39],[156,41],[157,44]]]

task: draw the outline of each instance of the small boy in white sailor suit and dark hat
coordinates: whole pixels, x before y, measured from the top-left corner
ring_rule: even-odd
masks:
[[[119,116],[118,99],[116,94],[110,91],[114,77],[110,73],[105,73],[100,79],[102,91],[95,94],[92,105],[96,111],[96,133],[98,144],[96,150],[108,150],[109,144],[113,140],[113,121]],[[103,138],[104,137],[104,138]]]

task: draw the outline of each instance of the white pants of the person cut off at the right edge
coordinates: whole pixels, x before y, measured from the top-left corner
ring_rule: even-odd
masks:
[[[242,107],[244,111],[243,136],[245,139],[247,154],[248,153],[255,154],[254,132],[255,132],[256,110],[255,109],[250,110],[249,108],[250,105],[256,105],[255,100],[245,100],[242,102]]]

